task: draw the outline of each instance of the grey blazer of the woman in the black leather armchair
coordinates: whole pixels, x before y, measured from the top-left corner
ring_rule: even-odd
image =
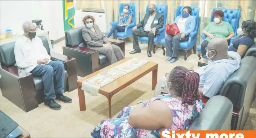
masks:
[[[93,25],[93,28],[96,34],[88,27],[84,27],[82,30],[82,36],[87,46],[102,47],[103,44],[111,43],[96,24]]]

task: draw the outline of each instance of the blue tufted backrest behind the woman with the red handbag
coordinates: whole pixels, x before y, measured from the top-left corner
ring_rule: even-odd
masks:
[[[178,7],[177,7],[175,17],[182,15],[182,9],[183,9],[183,7],[185,7],[185,6],[178,6]],[[191,15],[195,17],[196,27],[195,27],[195,30],[194,30],[194,31],[197,31],[197,30],[198,30],[198,27],[199,27],[199,12],[200,12],[200,7],[197,7],[197,6],[190,6],[190,7],[191,7],[191,9],[192,9]]]

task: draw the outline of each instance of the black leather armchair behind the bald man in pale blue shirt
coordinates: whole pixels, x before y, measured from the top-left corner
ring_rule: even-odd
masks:
[[[233,104],[231,130],[243,130],[255,99],[256,58],[242,58],[240,68],[236,70],[222,86],[217,95],[230,99]],[[209,98],[202,98],[204,104]]]

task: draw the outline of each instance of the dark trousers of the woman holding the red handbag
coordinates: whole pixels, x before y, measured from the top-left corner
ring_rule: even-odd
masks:
[[[165,47],[166,47],[166,56],[167,57],[178,57],[180,42],[188,41],[189,35],[184,37],[184,40],[180,40],[181,34],[175,36],[168,35],[165,37]],[[173,45],[172,45],[173,43]]]

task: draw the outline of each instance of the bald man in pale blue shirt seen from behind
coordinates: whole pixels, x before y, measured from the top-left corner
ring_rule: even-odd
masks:
[[[215,96],[227,78],[240,67],[241,57],[237,52],[227,51],[228,43],[223,38],[211,40],[206,48],[208,65],[195,72],[200,75],[199,93],[208,98]],[[153,97],[161,95],[166,87],[165,76],[157,81]]]

